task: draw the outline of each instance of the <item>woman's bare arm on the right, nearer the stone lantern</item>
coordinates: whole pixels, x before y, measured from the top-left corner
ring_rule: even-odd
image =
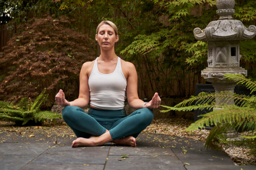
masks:
[[[135,66],[130,62],[125,62],[125,70],[127,70],[127,100],[129,105],[134,109],[143,108],[144,101],[139,99],[138,96],[138,76]],[[145,105],[146,108],[158,108],[161,103],[161,99],[158,93],[155,93],[152,100]]]

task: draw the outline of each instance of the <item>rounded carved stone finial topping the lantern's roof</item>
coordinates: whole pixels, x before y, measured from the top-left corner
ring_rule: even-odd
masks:
[[[217,15],[220,16],[219,20],[232,19],[232,15],[235,13],[233,9],[235,6],[235,0],[217,0],[216,6],[218,10]]]

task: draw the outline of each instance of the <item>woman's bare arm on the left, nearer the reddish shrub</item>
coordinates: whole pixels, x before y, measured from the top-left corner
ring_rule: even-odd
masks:
[[[72,102],[68,102],[65,99],[65,94],[60,89],[59,93],[55,96],[56,103],[61,106],[78,106],[80,108],[84,108],[89,104],[90,100],[90,91],[89,91],[89,84],[88,84],[88,75],[89,75],[89,68],[90,68],[91,62],[85,62],[82,65],[80,76],[79,76],[79,96],[77,99],[75,99]]]

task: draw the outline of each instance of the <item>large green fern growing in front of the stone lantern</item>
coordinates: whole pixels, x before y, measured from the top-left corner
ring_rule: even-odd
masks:
[[[251,79],[245,78],[240,74],[225,74],[223,77],[230,81],[237,82],[237,84],[245,85],[250,89],[251,93],[256,90],[256,83]],[[215,106],[215,99],[221,100],[223,104]],[[227,105],[225,103],[234,104]],[[168,112],[170,110],[178,111],[192,111],[194,109],[211,109],[202,118],[192,123],[186,130],[192,131],[198,128],[205,128],[205,126],[215,125],[211,129],[206,138],[205,146],[220,149],[219,143],[233,143],[236,145],[246,145],[251,149],[251,154],[256,153],[256,135],[241,136],[247,140],[243,141],[227,141],[223,133],[229,130],[241,129],[249,131],[256,130],[256,96],[246,96],[239,94],[232,94],[230,92],[221,93],[200,93],[198,96],[191,96],[189,99],[182,101],[174,107],[163,106],[167,110],[161,112]],[[214,108],[215,107],[215,108]]]

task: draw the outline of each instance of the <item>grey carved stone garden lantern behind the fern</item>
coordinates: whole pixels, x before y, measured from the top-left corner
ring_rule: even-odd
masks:
[[[235,13],[234,0],[217,0],[217,21],[210,22],[204,30],[194,29],[197,40],[208,42],[208,67],[201,71],[201,76],[211,82],[215,92],[231,91],[234,93],[236,83],[223,78],[226,73],[242,74],[247,76],[247,70],[240,67],[241,55],[239,42],[254,38],[256,27],[254,25],[246,28],[239,20],[233,20]],[[216,105],[222,101],[216,99]],[[227,104],[231,104],[229,101]]]

